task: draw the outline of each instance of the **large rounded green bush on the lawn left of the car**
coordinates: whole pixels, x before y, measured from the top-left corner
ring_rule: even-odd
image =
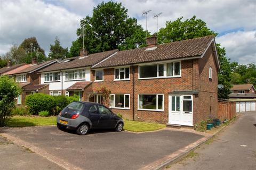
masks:
[[[26,105],[31,114],[38,114],[41,111],[53,112],[55,100],[53,96],[46,94],[33,94],[26,97]]]

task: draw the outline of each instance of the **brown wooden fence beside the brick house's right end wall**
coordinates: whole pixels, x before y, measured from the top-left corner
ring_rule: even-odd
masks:
[[[218,118],[220,120],[230,120],[236,116],[236,103],[233,101],[222,101],[218,102]]]

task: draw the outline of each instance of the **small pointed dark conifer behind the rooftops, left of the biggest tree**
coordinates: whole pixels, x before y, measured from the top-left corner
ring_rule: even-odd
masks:
[[[59,38],[56,37],[54,45],[50,45],[49,57],[51,59],[66,58],[68,55],[68,48],[63,48],[60,45]]]

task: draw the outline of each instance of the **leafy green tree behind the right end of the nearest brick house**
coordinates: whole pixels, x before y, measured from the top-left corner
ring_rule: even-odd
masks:
[[[203,37],[208,35],[217,36],[218,33],[210,30],[206,23],[193,16],[191,19],[182,20],[183,17],[175,21],[166,22],[165,28],[161,28],[157,33],[158,43],[170,43],[179,40],[192,39],[196,37]],[[218,98],[226,99],[230,93],[230,80],[233,63],[226,57],[225,48],[221,48],[217,44],[217,51],[221,66],[221,72],[218,74],[218,83],[223,84],[224,88],[218,91]]]

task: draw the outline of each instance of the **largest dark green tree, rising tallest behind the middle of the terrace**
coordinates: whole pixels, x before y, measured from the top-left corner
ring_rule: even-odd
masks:
[[[122,3],[107,2],[100,3],[93,8],[92,16],[86,16],[81,20],[81,28],[77,29],[77,42],[84,45],[89,53],[98,53],[111,49],[137,48],[145,44],[145,31],[137,23],[137,19],[129,18],[127,9]],[[144,33],[143,33],[144,32]],[[73,45],[78,47],[74,43]],[[70,49],[77,48],[73,46]],[[80,49],[79,49],[80,50]]]

